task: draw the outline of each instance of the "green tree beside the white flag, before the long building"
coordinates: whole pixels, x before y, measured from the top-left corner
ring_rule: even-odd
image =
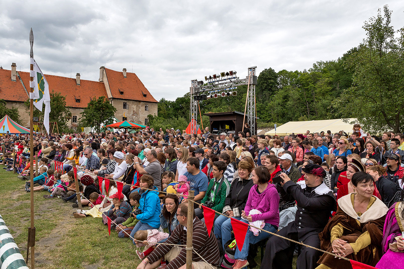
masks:
[[[59,92],[49,93],[50,97],[50,113],[49,113],[49,121],[57,122],[57,126],[59,131],[66,128],[66,123],[68,121],[68,117],[71,116],[69,112],[69,108],[66,106],[66,97],[61,95]],[[29,110],[29,99],[24,102],[25,108],[27,111]],[[45,113],[45,104],[42,105],[42,112],[35,108],[34,106],[34,117],[38,117],[38,121],[44,120]],[[53,126],[51,124],[51,126]],[[55,129],[56,130],[56,129]]]

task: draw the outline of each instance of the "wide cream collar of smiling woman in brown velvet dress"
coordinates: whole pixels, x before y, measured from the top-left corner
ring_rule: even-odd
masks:
[[[353,193],[347,194],[345,196],[342,196],[341,198],[338,199],[338,206],[347,214],[349,217],[352,217],[356,220],[358,220],[360,223],[365,223],[368,221],[372,221],[374,219],[379,219],[386,215],[387,206],[379,200],[376,196],[373,195],[373,197],[376,198],[376,201],[369,207],[368,210],[366,210],[365,213],[363,213],[360,217],[358,214],[355,212],[355,209],[353,209],[352,202],[351,202],[351,195]]]

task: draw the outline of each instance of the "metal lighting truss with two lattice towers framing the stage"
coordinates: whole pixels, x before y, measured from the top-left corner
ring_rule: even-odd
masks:
[[[248,118],[248,125],[251,128],[251,135],[255,134],[255,120],[257,110],[255,107],[255,85],[257,85],[257,75],[255,70],[256,66],[248,67],[248,76],[245,79],[240,79],[239,77],[227,77],[225,79],[217,79],[208,81],[208,85],[201,86],[198,84],[197,79],[191,80],[191,87],[189,88],[189,92],[191,94],[191,102],[189,109],[189,119],[191,122],[191,133],[197,133],[198,131],[198,102],[195,100],[195,95],[200,94],[215,94],[218,93],[219,90],[224,89],[234,89],[237,88],[238,85],[248,85],[247,90],[247,111],[246,115]]]

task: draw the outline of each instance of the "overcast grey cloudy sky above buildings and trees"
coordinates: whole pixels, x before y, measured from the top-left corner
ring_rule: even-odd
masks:
[[[364,21],[388,4],[395,29],[404,1],[5,1],[0,65],[98,80],[99,67],[136,73],[153,96],[175,100],[190,80],[247,68],[308,69],[337,59],[365,37]]]

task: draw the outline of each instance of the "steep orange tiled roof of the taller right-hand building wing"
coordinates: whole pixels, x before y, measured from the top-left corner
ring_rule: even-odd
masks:
[[[111,90],[113,98],[143,102],[158,102],[153,96],[151,96],[150,92],[135,73],[127,72],[126,77],[124,77],[122,72],[107,68],[105,68],[105,73],[107,74],[109,89]],[[120,94],[119,91],[123,92],[123,94]],[[143,94],[146,94],[146,97],[144,97]]]

